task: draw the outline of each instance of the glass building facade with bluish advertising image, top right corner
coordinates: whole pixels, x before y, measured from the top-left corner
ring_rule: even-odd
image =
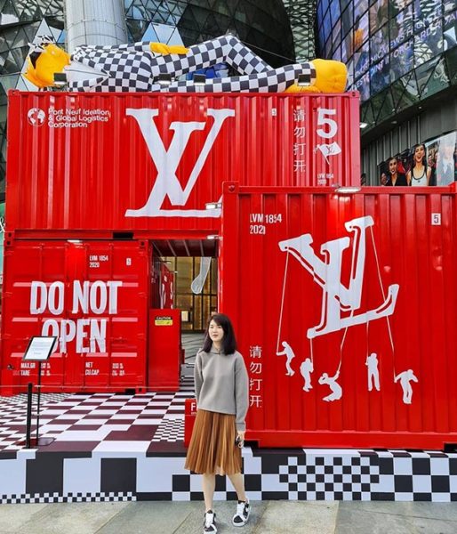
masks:
[[[455,0],[319,0],[322,57],[343,61],[367,128],[457,84]]]

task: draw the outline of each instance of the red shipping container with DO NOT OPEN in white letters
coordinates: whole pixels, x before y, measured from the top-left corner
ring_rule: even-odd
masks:
[[[28,341],[58,336],[44,391],[144,388],[148,244],[7,237],[4,245],[1,384],[15,393],[36,383],[37,364],[21,361]]]

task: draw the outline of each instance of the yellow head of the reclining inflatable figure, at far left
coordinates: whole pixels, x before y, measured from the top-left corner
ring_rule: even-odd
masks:
[[[70,55],[56,44],[44,44],[43,49],[43,52],[37,53],[35,67],[28,56],[24,73],[24,77],[37,87],[54,85],[54,73],[62,72],[70,63]]]

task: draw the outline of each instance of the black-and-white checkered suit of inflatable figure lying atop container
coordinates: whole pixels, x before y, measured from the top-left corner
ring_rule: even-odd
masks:
[[[68,84],[71,91],[96,92],[282,92],[297,81],[299,75],[316,78],[311,63],[288,65],[272,69],[235,36],[221,36],[212,41],[196,44],[187,54],[159,55],[150,52],[148,43],[112,46],[81,46],[72,59],[100,71],[100,77]],[[205,84],[193,81],[175,81],[158,85],[160,74],[180,77],[188,72],[205,69],[227,62],[242,76],[214,78]]]

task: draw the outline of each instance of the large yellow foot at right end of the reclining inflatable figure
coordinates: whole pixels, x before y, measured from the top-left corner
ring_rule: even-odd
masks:
[[[291,85],[285,93],[343,93],[348,80],[348,69],[341,61],[313,60],[316,81],[313,85]]]

